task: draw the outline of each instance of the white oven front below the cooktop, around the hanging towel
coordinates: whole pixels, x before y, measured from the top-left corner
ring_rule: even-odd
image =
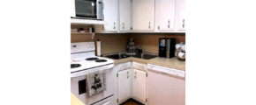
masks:
[[[70,79],[70,92],[86,105],[114,105],[115,82],[113,81],[115,81],[115,74],[113,67],[105,70],[105,74],[106,90],[102,93],[87,97],[86,74]]]

